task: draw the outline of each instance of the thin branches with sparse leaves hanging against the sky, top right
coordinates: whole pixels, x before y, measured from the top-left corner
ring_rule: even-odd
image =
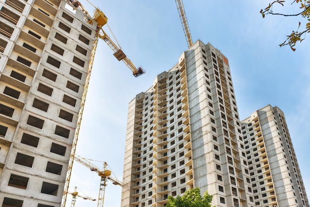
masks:
[[[280,4],[284,6],[285,0],[274,0],[273,2],[269,3],[269,5],[260,10],[260,13],[262,15],[262,18],[265,17],[267,14],[272,15],[281,15],[281,16],[301,16],[302,18],[307,19],[306,24],[301,26],[301,22],[298,23],[298,27],[296,31],[292,31],[290,35],[287,36],[287,39],[280,44],[280,47],[289,45],[293,51],[296,49],[294,48],[296,46],[297,42],[302,42],[307,33],[310,33],[310,0],[293,0],[291,5],[298,4],[301,11],[296,14],[282,14],[282,13],[274,13],[272,11],[272,6],[274,4]],[[303,36],[304,35],[304,36]]]

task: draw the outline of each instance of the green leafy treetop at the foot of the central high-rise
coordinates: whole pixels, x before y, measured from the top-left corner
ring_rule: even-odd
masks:
[[[205,192],[204,196],[200,195],[200,189],[194,188],[185,191],[182,197],[168,197],[166,207],[211,207],[212,196]]]

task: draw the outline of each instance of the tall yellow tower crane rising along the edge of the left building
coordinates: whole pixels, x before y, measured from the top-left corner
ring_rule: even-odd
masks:
[[[84,19],[86,21],[90,21],[90,22],[92,20],[96,21],[97,22],[97,29],[96,29],[96,33],[95,33],[93,46],[92,46],[89,65],[88,65],[88,69],[87,69],[87,73],[86,73],[85,85],[83,88],[83,94],[82,94],[81,104],[80,104],[80,108],[79,108],[79,114],[78,114],[78,118],[77,118],[75,132],[74,132],[72,149],[71,149],[71,153],[70,153],[70,157],[69,157],[68,169],[67,169],[67,174],[66,174],[66,179],[65,179],[65,184],[64,184],[64,192],[62,195],[61,207],[65,207],[65,203],[67,200],[67,193],[66,192],[68,192],[68,188],[69,188],[69,182],[70,182],[71,170],[72,170],[73,160],[74,160],[74,155],[75,155],[75,150],[76,150],[76,144],[78,141],[78,135],[79,135],[79,131],[80,131],[80,125],[81,125],[81,121],[82,121],[82,115],[83,115],[88,85],[89,85],[89,81],[90,81],[90,76],[91,76],[91,72],[92,72],[92,68],[93,68],[95,53],[96,53],[96,49],[97,49],[99,39],[102,39],[113,50],[114,56],[119,61],[122,60],[127,65],[127,67],[132,71],[132,74],[135,77],[138,77],[138,76],[145,73],[145,70],[142,68],[142,66],[139,66],[138,68],[136,68],[136,66],[131,62],[130,59],[128,59],[128,57],[125,55],[125,53],[121,50],[120,46],[119,45],[117,46],[110,39],[110,37],[103,31],[103,26],[107,23],[107,17],[103,14],[103,12],[99,8],[95,7],[92,4],[95,7],[95,12],[94,12],[93,17],[91,17],[89,15],[89,13],[87,12],[87,10],[83,7],[83,5],[79,1],[77,1],[77,0],[66,0],[66,1],[70,5],[72,5],[72,7],[74,9],[78,9],[78,10],[84,12],[84,14],[86,15],[86,17],[84,17]]]

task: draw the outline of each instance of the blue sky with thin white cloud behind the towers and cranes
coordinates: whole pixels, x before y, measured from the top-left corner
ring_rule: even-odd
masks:
[[[84,0],[84,7],[93,8]],[[76,153],[106,161],[122,179],[128,103],[153,85],[155,76],[169,70],[187,43],[174,0],[92,0],[108,17],[108,25],[124,52],[146,74],[135,78],[100,41]],[[230,64],[240,118],[271,104],[286,117],[304,184],[310,197],[310,37],[296,52],[278,45],[297,29],[298,19],[261,18],[268,0],[183,0],[193,41],[208,42],[224,53]],[[289,3],[288,3],[289,4]],[[278,7],[274,7],[276,11]],[[280,8],[281,11],[294,9]],[[107,28],[105,28],[107,31]],[[99,167],[101,162],[92,161]],[[98,198],[100,177],[75,162],[70,186]],[[68,196],[67,200],[71,200]],[[109,182],[105,207],[120,207],[121,188]],[[69,206],[69,204],[67,205]],[[76,207],[95,207],[97,201],[77,199]]]

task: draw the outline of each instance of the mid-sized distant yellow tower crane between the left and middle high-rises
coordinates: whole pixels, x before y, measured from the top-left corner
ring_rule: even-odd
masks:
[[[117,179],[111,177],[111,170],[107,169],[107,163],[103,162],[103,169],[100,170],[99,167],[92,164],[85,158],[75,154],[74,160],[83,164],[84,166],[88,167],[91,171],[97,172],[98,175],[101,177],[100,180],[100,188],[99,188],[99,196],[98,196],[98,207],[103,207],[104,203],[104,194],[105,194],[105,187],[107,186],[107,181],[112,181],[112,184],[122,186],[122,183]]]

